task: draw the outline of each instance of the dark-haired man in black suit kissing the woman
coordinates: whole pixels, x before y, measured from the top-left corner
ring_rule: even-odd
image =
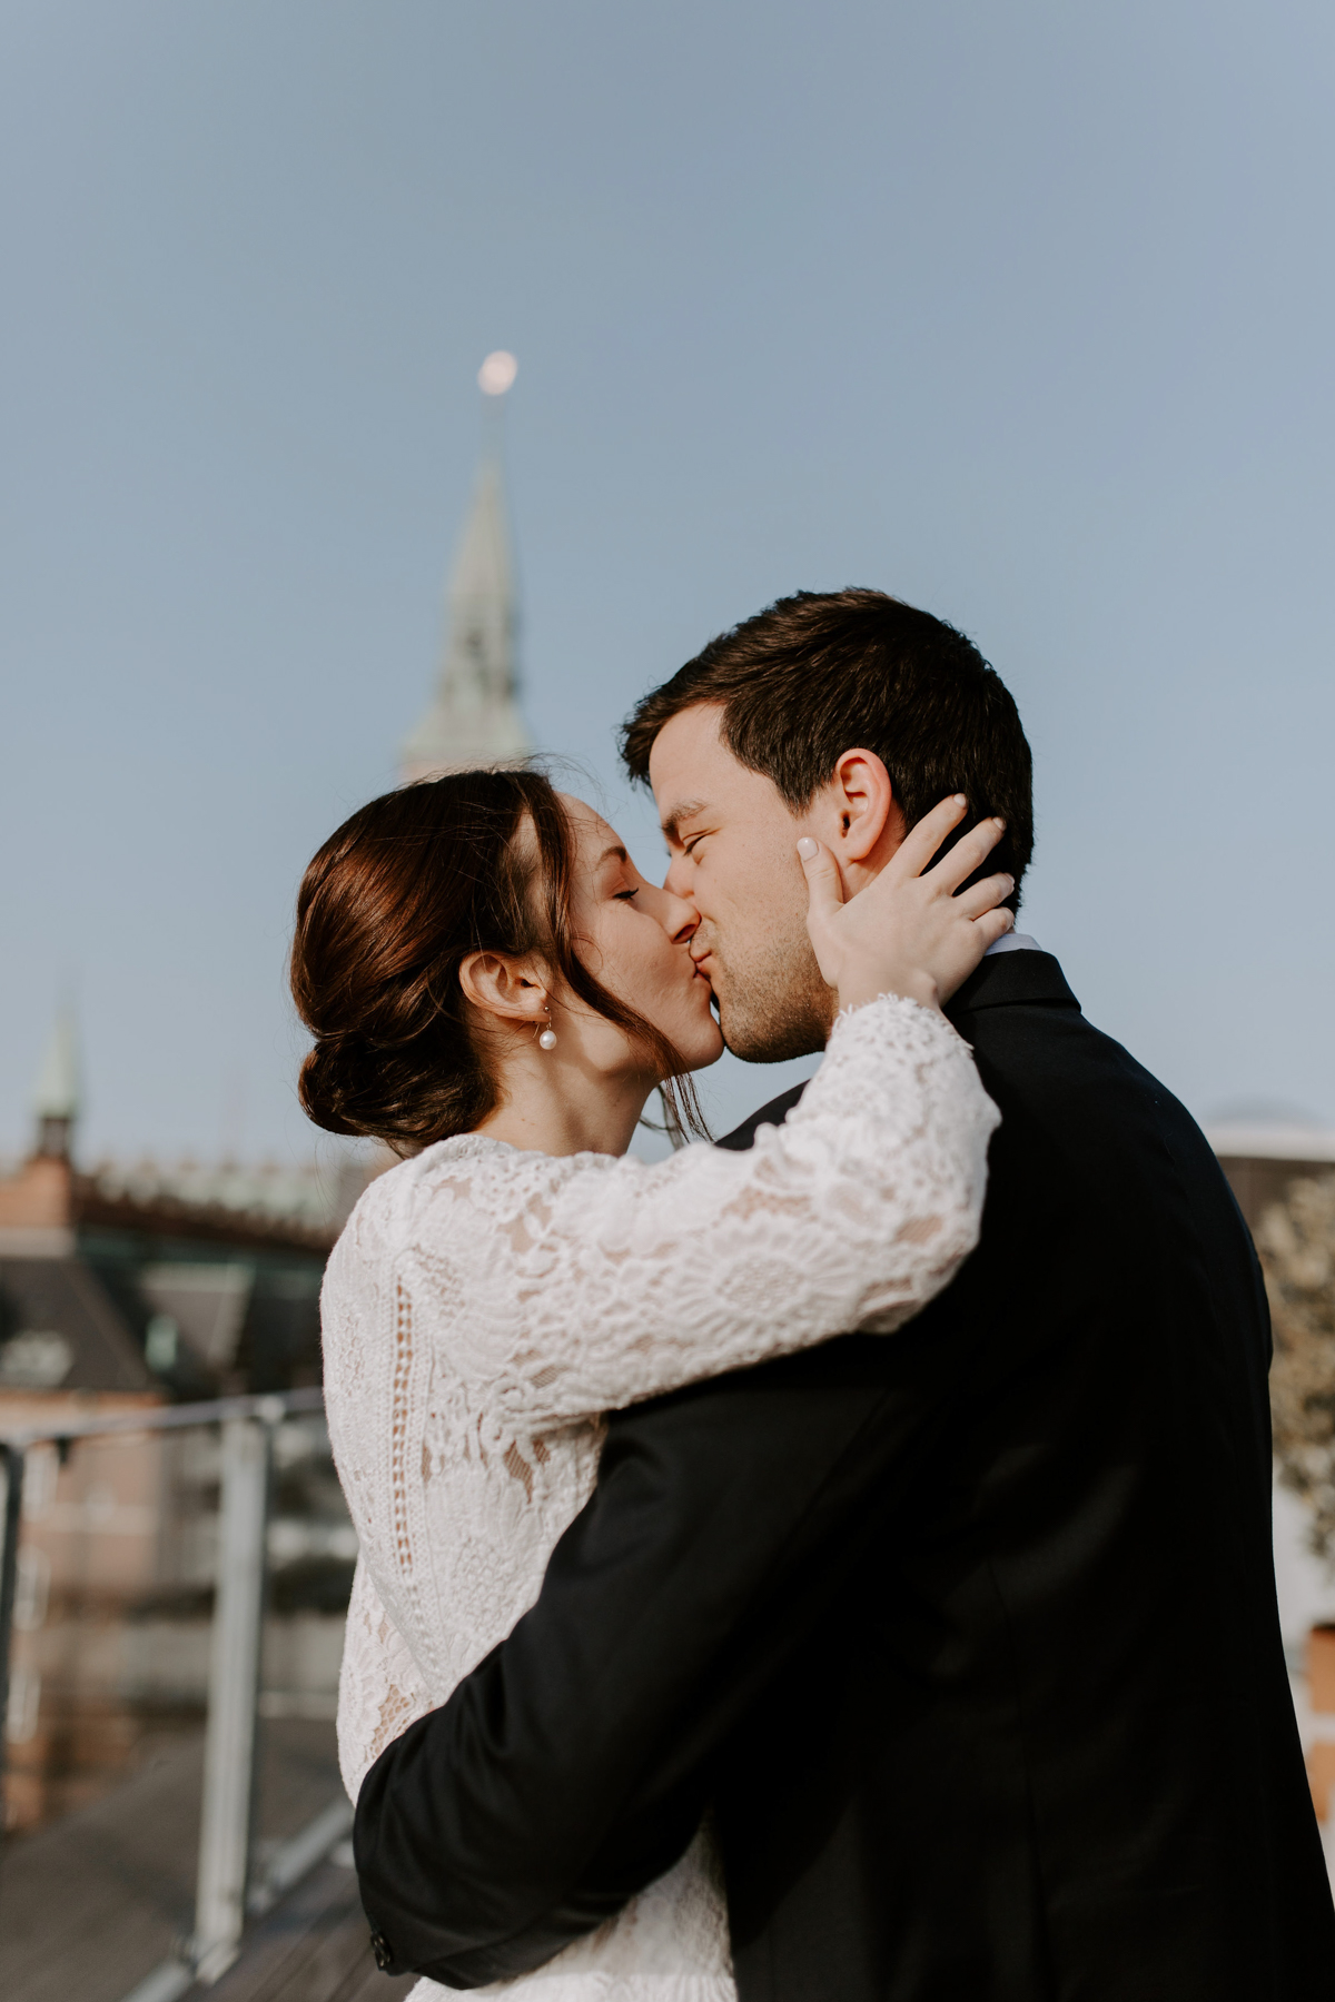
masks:
[[[624,757],[753,1061],[831,1025],[803,831],[855,895],[963,791],[987,867],[1029,861],[1015,703],[875,591],[713,641]],[[612,1415],[536,1606],[362,1786],[382,1966],[538,1966],[713,1806],[743,2002],[1335,1998],[1251,1241],[1183,1107],[1001,947],[949,1005],[1003,1113],[979,1249],[891,1339]]]

